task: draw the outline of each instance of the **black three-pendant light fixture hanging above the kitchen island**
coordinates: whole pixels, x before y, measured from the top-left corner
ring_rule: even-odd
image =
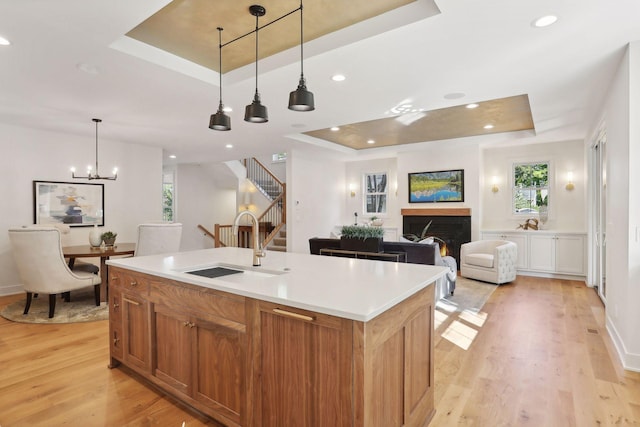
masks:
[[[289,106],[288,108],[292,111],[313,111],[315,109],[313,93],[307,90],[306,79],[304,77],[304,32],[303,32],[303,15],[302,15],[302,0],[300,0],[300,6],[279,18],[274,19],[273,21],[264,24],[263,26],[258,25],[258,18],[264,16],[267,11],[264,7],[260,5],[252,5],[249,7],[249,13],[256,18],[256,27],[254,30],[249,31],[246,34],[241,35],[231,41],[228,41],[222,44],[222,28],[218,27],[218,63],[220,64],[220,102],[218,104],[218,111],[215,114],[212,114],[209,119],[209,128],[213,130],[227,131],[231,130],[231,118],[224,114],[223,111],[223,103],[222,103],[222,48],[234,43],[248,35],[253,33],[256,34],[256,90],[253,98],[253,102],[245,107],[245,116],[244,120],[249,123],[266,123],[269,121],[267,115],[267,107],[262,105],[260,100],[260,93],[258,92],[258,32],[263,28],[291,15],[296,12],[300,12],[300,78],[298,81],[298,88],[292,91],[289,94]]]

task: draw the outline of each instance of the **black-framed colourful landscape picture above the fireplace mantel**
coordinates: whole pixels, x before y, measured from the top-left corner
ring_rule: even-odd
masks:
[[[409,203],[464,202],[464,169],[409,174]]]

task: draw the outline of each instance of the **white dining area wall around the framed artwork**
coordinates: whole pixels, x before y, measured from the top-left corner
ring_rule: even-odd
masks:
[[[5,295],[22,291],[6,230],[33,224],[33,181],[71,181],[70,166],[83,171],[95,162],[95,140],[1,124],[0,135],[0,295]],[[117,181],[104,181],[104,230],[117,232],[118,241],[134,242],[138,223],[162,219],[162,150],[101,137],[100,165],[104,174],[119,168]],[[73,228],[63,244],[88,244],[89,231]]]

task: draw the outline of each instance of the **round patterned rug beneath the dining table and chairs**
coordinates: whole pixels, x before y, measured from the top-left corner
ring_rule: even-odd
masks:
[[[71,292],[71,301],[64,302],[58,296],[56,310],[49,319],[49,295],[39,295],[31,300],[28,314],[22,314],[27,296],[20,301],[9,304],[0,311],[0,316],[14,322],[22,323],[78,323],[107,320],[109,306],[106,302],[96,306],[93,289]]]

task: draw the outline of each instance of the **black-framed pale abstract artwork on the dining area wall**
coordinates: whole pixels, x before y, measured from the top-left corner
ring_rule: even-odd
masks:
[[[104,225],[104,184],[33,181],[34,224]]]

